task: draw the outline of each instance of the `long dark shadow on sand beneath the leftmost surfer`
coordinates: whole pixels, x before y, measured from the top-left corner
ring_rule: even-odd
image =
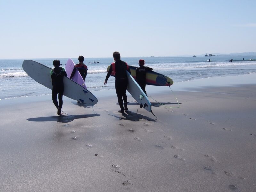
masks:
[[[57,121],[60,123],[68,123],[73,121],[74,119],[82,119],[82,118],[89,118],[100,116],[100,114],[88,114],[88,115],[62,115],[62,116],[50,116],[50,117],[36,117],[36,118],[29,118],[28,121],[36,121],[36,122],[44,122],[44,121]]]

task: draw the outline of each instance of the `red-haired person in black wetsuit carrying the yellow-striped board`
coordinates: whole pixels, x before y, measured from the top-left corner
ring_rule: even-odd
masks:
[[[146,88],[146,73],[148,71],[152,71],[153,69],[150,67],[146,67],[144,66],[145,61],[143,59],[139,60],[139,66],[138,68],[136,68],[136,81],[137,83],[140,85],[142,91],[144,91],[144,93],[147,95],[147,92],[145,90]]]

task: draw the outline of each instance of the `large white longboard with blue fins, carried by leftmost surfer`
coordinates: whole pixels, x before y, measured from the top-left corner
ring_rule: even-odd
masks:
[[[32,60],[24,60],[22,67],[32,79],[45,87],[52,89],[51,68]],[[98,99],[91,92],[68,77],[64,76],[63,83],[63,95],[91,105],[95,105],[98,102]]]

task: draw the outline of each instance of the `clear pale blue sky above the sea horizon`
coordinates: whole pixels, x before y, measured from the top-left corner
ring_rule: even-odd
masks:
[[[1,0],[0,58],[256,52],[255,9],[255,0]]]

